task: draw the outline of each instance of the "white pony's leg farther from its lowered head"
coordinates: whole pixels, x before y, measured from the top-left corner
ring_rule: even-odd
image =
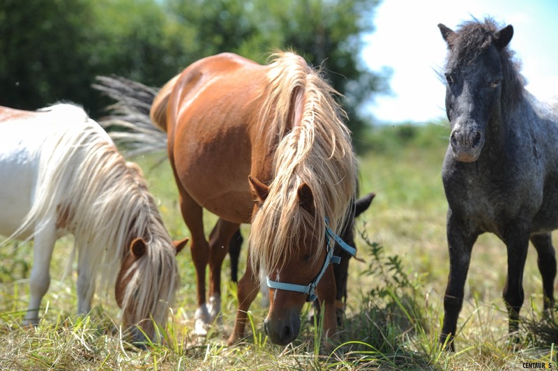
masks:
[[[56,228],[53,225],[43,227],[33,238],[33,268],[29,280],[29,307],[23,324],[36,325],[39,322],[39,308],[43,296],[50,286],[50,259],[56,242]]]

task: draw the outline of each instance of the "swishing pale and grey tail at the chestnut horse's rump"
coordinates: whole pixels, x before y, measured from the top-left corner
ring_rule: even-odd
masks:
[[[171,82],[161,89],[119,76],[98,76],[93,88],[116,100],[99,120],[127,157],[167,151],[166,111]],[[153,109],[151,109],[153,107]],[[153,112],[154,121],[150,119]]]

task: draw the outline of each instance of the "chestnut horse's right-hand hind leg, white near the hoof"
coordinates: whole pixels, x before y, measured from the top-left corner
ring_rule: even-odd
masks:
[[[209,320],[218,318],[221,311],[221,266],[227,255],[229,241],[239,225],[219,218],[209,235]]]

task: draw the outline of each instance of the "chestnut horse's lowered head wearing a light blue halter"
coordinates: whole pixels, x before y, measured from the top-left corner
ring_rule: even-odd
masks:
[[[250,184],[256,199],[257,213],[264,204],[269,188],[251,177]],[[306,223],[310,222],[312,225],[316,220],[315,202],[312,190],[306,183],[299,185],[296,190],[296,204],[301,208]],[[301,310],[307,301],[315,300],[314,289],[318,282],[320,293],[333,293],[332,300],[335,296],[333,274],[321,280],[333,254],[333,244],[328,250],[324,246],[324,238],[319,238],[318,231],[319,227],[310,227],[302,234],[293,232],[292,236],[287,238],[296,240],[290,241],[294,248],[288,249],[288,257],[282,259],[280,264],[266,266],[264,269],[267,273],[270,301],[264,328],[274,344],[287,345],[299,335]],[[267,259],[267,264],[269,261],[270,259]]]

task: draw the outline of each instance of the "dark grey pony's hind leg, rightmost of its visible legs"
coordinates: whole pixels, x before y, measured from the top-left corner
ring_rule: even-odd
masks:
[[[554,279],[556,277],[556,257],[552,246],[552,235],[550,233],[535,234],[531,236],[531,242],[538,254],[538,270],[543,278],[544,303],[543,308],[548,315],[552,315],[554,307]]]

